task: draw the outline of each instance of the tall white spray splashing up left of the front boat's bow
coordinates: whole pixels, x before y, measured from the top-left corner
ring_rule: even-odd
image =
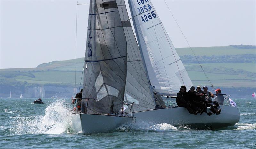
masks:
[[[64,100],[55,99],[44,110],[45,115],[13,117],[14,134],[61,134],[73,133],[71,128],[71,108]]]

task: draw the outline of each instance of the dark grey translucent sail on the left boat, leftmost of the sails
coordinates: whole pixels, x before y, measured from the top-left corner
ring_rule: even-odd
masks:
[[[116,1],[91,0],[82,113],[117,113],[123,106],[127,45]]]

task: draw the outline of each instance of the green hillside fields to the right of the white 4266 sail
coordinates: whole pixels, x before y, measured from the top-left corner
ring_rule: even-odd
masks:
[[[219,63],[199,63],[206,72],[207,77],[210,79],[212,85],[223,87],[256,87],[256,49],[255,46],[251,49],[243,48],[243,46],[237,46],[242,48],[236,48],[234,46],[226,47],[193,47],[192,50],[196,56],[210,56],[218,60]],[[210,83],[204,75],[200,65],[197,62],[186,63],[187,59],[182,59],[184,55],[193,55],[190,48],[176,48],[177,53],[181,56],[181,60],[188,71],[188,75],[195,86],[207,85]],[[221,63],[221,56],[230,58],[230,61],[234,61],[237,57],[237,61],[248,61],[244,55],[250,55],[250,63]],[[183,57],[184,58],[184,57]],[[226,59],[225,59],[226,60]],[[224,60],[223,60],[224,61]]]

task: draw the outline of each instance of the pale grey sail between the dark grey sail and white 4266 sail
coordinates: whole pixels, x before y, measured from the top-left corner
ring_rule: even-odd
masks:
[[[146,71],[140,50],[135,39],[124,0],[116,0],[127,42],[127,78],[125,86],[125,103],[135,103],[135,111],[155,108],[155,102],[149,89]],[[127,111],[129,108],[127,108]]]

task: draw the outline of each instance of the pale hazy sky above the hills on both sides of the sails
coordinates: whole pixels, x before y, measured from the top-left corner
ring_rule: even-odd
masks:
[[[76,3],[0,0],[0,68],[84,57],[89,7]],[[165,2],[152,3],[176,48],[256,45],[256,0],[166,0],[188,43]]]

